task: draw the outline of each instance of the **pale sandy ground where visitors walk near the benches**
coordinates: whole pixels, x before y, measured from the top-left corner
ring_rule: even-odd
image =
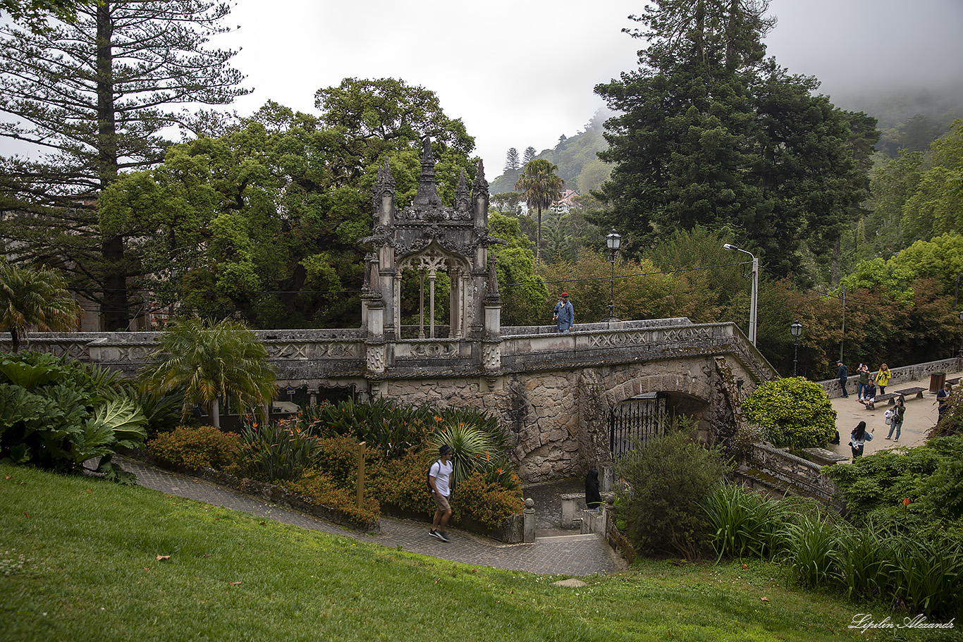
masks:
[[[954,379],[963,375],[961,372],[947,372],[948,379]],[[871,454],[877,450],[894,449],[900,446],[920,446],[926,439],[926,431],[936,425],[936,393],[929,391],[929,379],[919,379],[917,381],[891,381],[886,387],[886,391],[893,393],[905,388],[925,388],[923,398],[916,398],[911,395],[906,398],[906,414],[903,417],[902,432],[899,441],[887,440],[886,435],[890,431],[890,426],[885,424],[883,413],[887,408],[892,408],[888,401],[875,404],[874,410],[867,410],[866,406],[856,400],[852,393],[848,398],[838,397],[830,399],[833,408],[836,409],[836,427],[840,431],[839,446],[829,446],[834,452],[845,454],[847,457],[852,454],[847,446],[849,433],[860,422],[866,422],[866,427],[873,430],[872,442],[867,442],[863,449],[863,454]],[[953,394],[957,394],[960,385],[953,386]],[[894,433],[894,438],[896,433]]]

